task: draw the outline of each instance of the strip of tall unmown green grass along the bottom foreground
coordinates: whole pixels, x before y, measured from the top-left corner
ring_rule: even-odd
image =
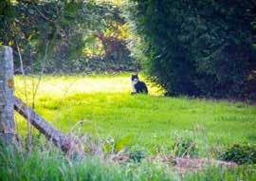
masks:
[[[69,159],[58,150],[0,147],[0,180],[3,181],[82,181],[82,180],[255,180],[255,167],[225,168],[208,166],[204,171],[181,172],[169,164],[127,162],[114,163],[107,158],[87,156]]]

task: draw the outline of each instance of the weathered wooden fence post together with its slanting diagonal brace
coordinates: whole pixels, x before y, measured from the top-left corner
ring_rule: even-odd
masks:
[[[34,127],[68,154],[82,155],[77,139],[65,136],[46,119],[40,117],[25,102],[13,96],[13,57],[9,46],[0,46],[0,140],[11,143],[15,138],[14,109]]]

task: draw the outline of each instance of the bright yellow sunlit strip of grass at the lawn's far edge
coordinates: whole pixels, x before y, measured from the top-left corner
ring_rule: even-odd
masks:
[[[36,89],[39,83],[38,96],[47,93],[51,95],[67,96],[77,93],[127,93],[131,92],[130,74],[119,75],[91,75],[91,76],[23,76],[15,77],[16,95],[25,96],[27,86],[28,95]],[[144,79],[143,76],[141,76]],[[26,82],[26,83],[25,83]],[[151,95],[162,95],[163,89],[155,83],[147,81]]]

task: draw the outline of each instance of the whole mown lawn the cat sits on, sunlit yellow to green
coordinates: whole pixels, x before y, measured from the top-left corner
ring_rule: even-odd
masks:
[[[129,74],[97,76],[44,76],[35,109],[65,133],[113,137],[131,149],[169,153],[177,137],[191,137],[201,155],[234,143],[256,143],[256,106],[226,100],[163,97],[154,83],[149,95],[130,95]],[[15,94],[32,101],[38,79],[15,77]],[[27,122],[16,116],[18,132]],[[82,126],[75,127],[84,120]]]

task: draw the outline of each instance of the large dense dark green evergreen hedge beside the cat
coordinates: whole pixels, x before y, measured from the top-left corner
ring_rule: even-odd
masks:
[[[255,97],[255,1],[134,1],[144,64],[169,95]]]

